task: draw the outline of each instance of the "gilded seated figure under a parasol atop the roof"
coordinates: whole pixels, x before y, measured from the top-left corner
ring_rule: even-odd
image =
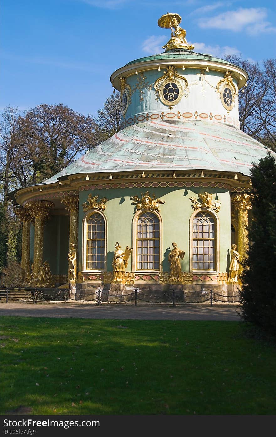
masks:
[[[161,28],[171,29],[171,38],[167,44],[163,45],[163,49],[168,52],[173,49],[193,50],[194,45],[189,45],[186,40],[186,30],[179,26],[181,17],[179,14],[168,13],[162,15],[158,20],[158,25]]]

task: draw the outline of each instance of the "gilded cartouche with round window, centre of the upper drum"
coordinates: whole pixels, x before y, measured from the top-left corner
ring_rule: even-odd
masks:
[[[155,80],[154,89],[156,100],[160,98],[165,105],[175,105],[183,97],[188,87],[188,81],[184,76],[176,73],[176,67],[167,66],[164,75]],[[186,91],[187,92],[187,91]]]

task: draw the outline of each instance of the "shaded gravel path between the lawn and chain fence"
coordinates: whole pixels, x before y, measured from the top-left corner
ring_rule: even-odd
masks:
[[[0,316],[138,320],[240,320],[238,305],[150,305],[0,301]]]

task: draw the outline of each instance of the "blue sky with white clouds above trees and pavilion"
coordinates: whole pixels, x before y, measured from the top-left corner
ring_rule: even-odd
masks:
[[[0,109],[63,103],[97,114],[110,75],[160,53],[170,31],[157,20],[182,16],[195,51],[276,57],[274,1],[0,0]]]

